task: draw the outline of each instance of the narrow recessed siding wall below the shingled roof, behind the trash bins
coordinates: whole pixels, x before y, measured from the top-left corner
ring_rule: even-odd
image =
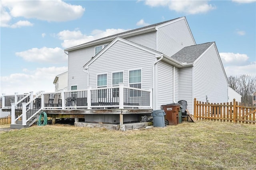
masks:
[[[192,67],[181,68],[179,79],[179,100],[187,101],[187,109],[192,114]]]

